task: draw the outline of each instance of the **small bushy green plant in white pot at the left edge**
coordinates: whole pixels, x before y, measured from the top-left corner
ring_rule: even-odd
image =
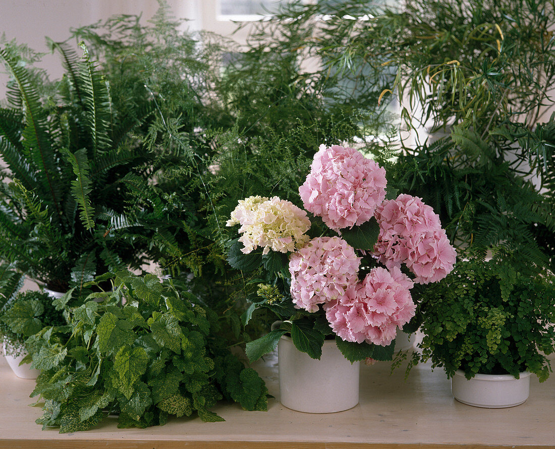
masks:
[[[51,297],[42,291],[19,292],[0,307],[0,341],[6,345],[7,355],[25,353],[27,338],[43,327],[63,325],[62,312],[54,308]]]

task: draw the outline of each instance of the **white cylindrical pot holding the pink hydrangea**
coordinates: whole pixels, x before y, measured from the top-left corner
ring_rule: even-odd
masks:
[[[291,337],[278,343],[280,402],[307,413],[334,413],[359,403],[360,362],[345,359],[335,340],[324,341],[320,360],[296,349]]]

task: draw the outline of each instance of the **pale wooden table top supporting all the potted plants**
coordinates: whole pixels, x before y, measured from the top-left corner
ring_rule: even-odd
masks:
[[[362,365],[359,405],[339,413],[311,414],[280,404],[275,355],[254,367],[275,396],[267,412],[243,411],[221,402],[213,410],[225,422],[170,418],[165,426],[118,429],[115,418],[108,418],[93,430],[60,435],[34,423],[42,414],[40,407],[29,406],[34,381],[18,379],[0,357],[0,447],[555,448],[555,375],[543,384],[532,376],[530,397],[522,405],[486,409],[455,401],[442,370],[418,366],[405,381],[403,369],[390,375],[386,362]]]

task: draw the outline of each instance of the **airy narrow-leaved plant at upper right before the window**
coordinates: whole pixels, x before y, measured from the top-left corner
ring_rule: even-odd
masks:
[[[295,5],[289,16],[308,21],[321,14],[333,17],[322,24],[327,64],[362,85],[381,76],[410,127],[421,107],[421,121],[431,120],[432,129],[463,124],[485,135],[507,120],[533,126],[552,104],[549,0],[417,0],[403,8],[349,1]]]

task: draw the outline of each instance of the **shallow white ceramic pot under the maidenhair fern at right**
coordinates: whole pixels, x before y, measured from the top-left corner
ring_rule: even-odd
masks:
[[[451,391],[459,402],[475,407],[514,407],[527,400],[530,373],[521,372],[519,379],[510,374],[477,374],[467,380],[465,372],[457,370],[451,378]]]

